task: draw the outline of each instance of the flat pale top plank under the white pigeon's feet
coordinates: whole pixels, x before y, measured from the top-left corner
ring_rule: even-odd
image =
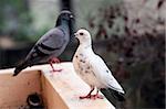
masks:
[[[90,87],[75,74],[72,63],[62,63],[54,66],[63,70],[53,75],[48,69],[42,69],[42,72],[69,109],[115,109],[106,98],[79,99],[81,95],[86,95],[90,91]]]

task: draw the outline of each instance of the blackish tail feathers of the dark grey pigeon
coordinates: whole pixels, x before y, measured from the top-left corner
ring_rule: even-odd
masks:
[[[22,69],[27,68],[28,67],[28,62],[24,61],[22,62],[21,64],[19,64],[15,69],[14,69],[14,74],[12,76],[17,76]]]

